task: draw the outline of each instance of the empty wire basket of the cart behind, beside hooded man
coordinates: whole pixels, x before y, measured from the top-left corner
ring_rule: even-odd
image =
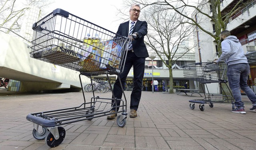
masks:
[[[201,83],[226,83],[227,66],[225,63],[199,62],[182,66],[185,78]]]

